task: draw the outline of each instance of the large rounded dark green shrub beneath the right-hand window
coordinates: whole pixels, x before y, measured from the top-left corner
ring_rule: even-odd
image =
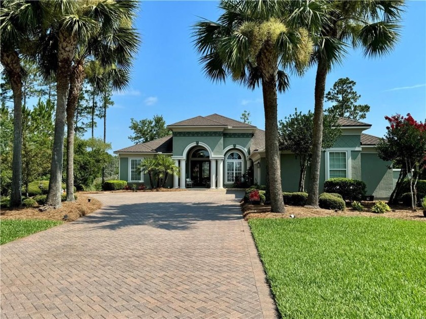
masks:
[[[367,191],[367,185],[351,178],[330,178],[324,182],[324,191],[338,193],[345,201],[361,201]]]

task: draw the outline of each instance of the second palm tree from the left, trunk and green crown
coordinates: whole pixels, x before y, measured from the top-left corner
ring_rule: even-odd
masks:
[[[47,2],[50,3],[50,2]],[[98,34],[109,34],[105,37],[104,49],[117,45],[115,34],[122,28],[120,25],[126,14],[132,13],[137,4],[134,1],[81,2],[77,0],[58,0],[51,3],[49,28],[44,36],[45,42],[40,54],[40,64],[46,74],[56,75],[56,117],[55,134],[52,152],[49,192],[46,207],[58,208],[61,206],[60,190],[62,179],[63,138],[65,127],[65,113],[67,94],[70,85],[70,76],[73,61],[79,45],[91,41]],[[129,15],[131,16],[131,15]],[[105,32],[116,30],[116,32]],[[49,54],[50,53],[50,54]],[[127,65],[127,61],[119,61]]]

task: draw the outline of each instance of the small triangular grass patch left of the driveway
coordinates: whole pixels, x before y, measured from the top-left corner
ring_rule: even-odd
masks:
[[[60,224],[62,224],[61,221],[47,219],[2,219],[0,221],[0,244],[6,244]]]

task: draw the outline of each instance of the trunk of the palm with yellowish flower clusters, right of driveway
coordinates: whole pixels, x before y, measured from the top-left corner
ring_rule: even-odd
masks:
[[[280,154],[278,148],[278,120],[276,83],[262,81],[263,106],[265,109],[265,147],[267,149],[269,192],[271,212],[284,213],[286,207],[282,200]]]

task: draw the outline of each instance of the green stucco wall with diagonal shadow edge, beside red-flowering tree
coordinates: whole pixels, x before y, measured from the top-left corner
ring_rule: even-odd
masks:
[[[393,171],[376,153],[361,153],[362,180],[367,184],[367,194],[376,198],[388,198],[393,191]]]

